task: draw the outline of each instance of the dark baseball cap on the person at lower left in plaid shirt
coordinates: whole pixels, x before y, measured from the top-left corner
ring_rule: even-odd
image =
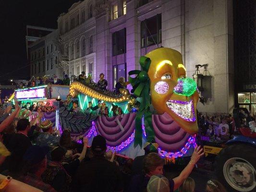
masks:
[[[45,158],[48,152],[48,146],[32,145],[27,149],[26,153],[23,156],[23,160],[32,165],[35,165],[37,163],[40,163]]]

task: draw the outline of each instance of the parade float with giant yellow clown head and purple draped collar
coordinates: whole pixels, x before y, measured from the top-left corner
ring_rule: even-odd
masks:
[[[108,149],[131,158],[143,155],[144,143],[153,141],[158,143],[161,156],[191,155],[198,132],[198,92],[195,81],[186,78],[182,55],[171,48],[158,48],[139,62],[141,71],[129,72],[132,96],[125,90],[115,95],[73,82],[70,95],[78,99],[79,107],[87,111],[98,106],[105,114],[96,117],[85,112],[77,118],[60,108],[61,129],[90,139],[100,134]]]

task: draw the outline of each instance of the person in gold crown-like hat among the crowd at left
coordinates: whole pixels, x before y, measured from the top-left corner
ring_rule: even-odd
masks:
[[[49,146],[52,148],[59,144],[60,137],[58,135],[58,131],[53,130],[52,122],[50,120],[41,122],[40,128],[43,132],[38,132],[37,136],[34,138],[35,144],[40,146]]]

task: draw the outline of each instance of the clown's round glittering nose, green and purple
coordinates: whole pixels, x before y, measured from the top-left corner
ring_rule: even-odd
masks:
[[[196,83],[191,78],[178,79],[178,84],[174,87],[174,93],[183,96],[192,96],[196,91]]]

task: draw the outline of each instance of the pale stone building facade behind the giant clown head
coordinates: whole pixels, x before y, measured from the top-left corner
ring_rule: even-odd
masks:
[[[101,72],[114,88],[139,69],[139,57],[158,47],[183,55],[187,76],[208,64],[210,97],[199,111],[227,113],[234,107],[232,0],[84,0],[58,18],[65,73]],[[200,69],[203,73],[204,69]]]

